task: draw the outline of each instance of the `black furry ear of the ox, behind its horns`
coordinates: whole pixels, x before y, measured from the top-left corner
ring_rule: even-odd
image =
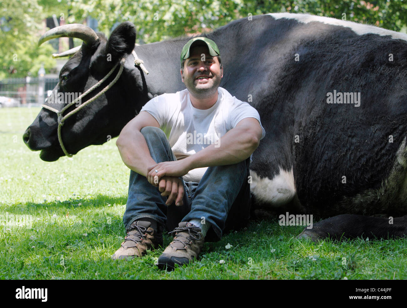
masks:
[[[130,54],[134,44],[136,44],[136,28],[131,22],[123,22],[110,35],[106,44],[106,54],[111,54],[112,59],[117,61]]]

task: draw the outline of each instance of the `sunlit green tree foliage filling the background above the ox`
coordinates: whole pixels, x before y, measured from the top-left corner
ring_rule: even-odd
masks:
[[[36,75],[41,63],[55,66],[49,44],[36,46],[42,20],[53,14],[67,23],[91,16],[98,30],[109,35],[120,22],[138,30],[138,43],[202,33],[228,22],[263,13],[291,12],[374,24],[400,31],[407,25],[407,0],[2,0],[0,2],[0,78]],[[76,44],[79,44],[76,41]],[[15,61],[15,54],[18,61]]]

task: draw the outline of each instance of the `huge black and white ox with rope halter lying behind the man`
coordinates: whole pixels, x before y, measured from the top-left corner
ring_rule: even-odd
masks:
[[[407,215],[400,217],[407,213],[407,35],[275,13],[206,36],[221,51],[220,86],[249,101],[266,130],[251,164],[258,212],[331,217],[300,234],[312,240],[407,234]],[[185,88],[179,55],[189,37],[135,46],[136,30],[125,22],[109,39],[65,25],[39,43],[54,37],[79,37],[83,44],[50,98],[85,95],[80,106],[73,98],[48,99],[27,128],[24,142],[41,150],[44,161],[106,142],[149,99]]]

